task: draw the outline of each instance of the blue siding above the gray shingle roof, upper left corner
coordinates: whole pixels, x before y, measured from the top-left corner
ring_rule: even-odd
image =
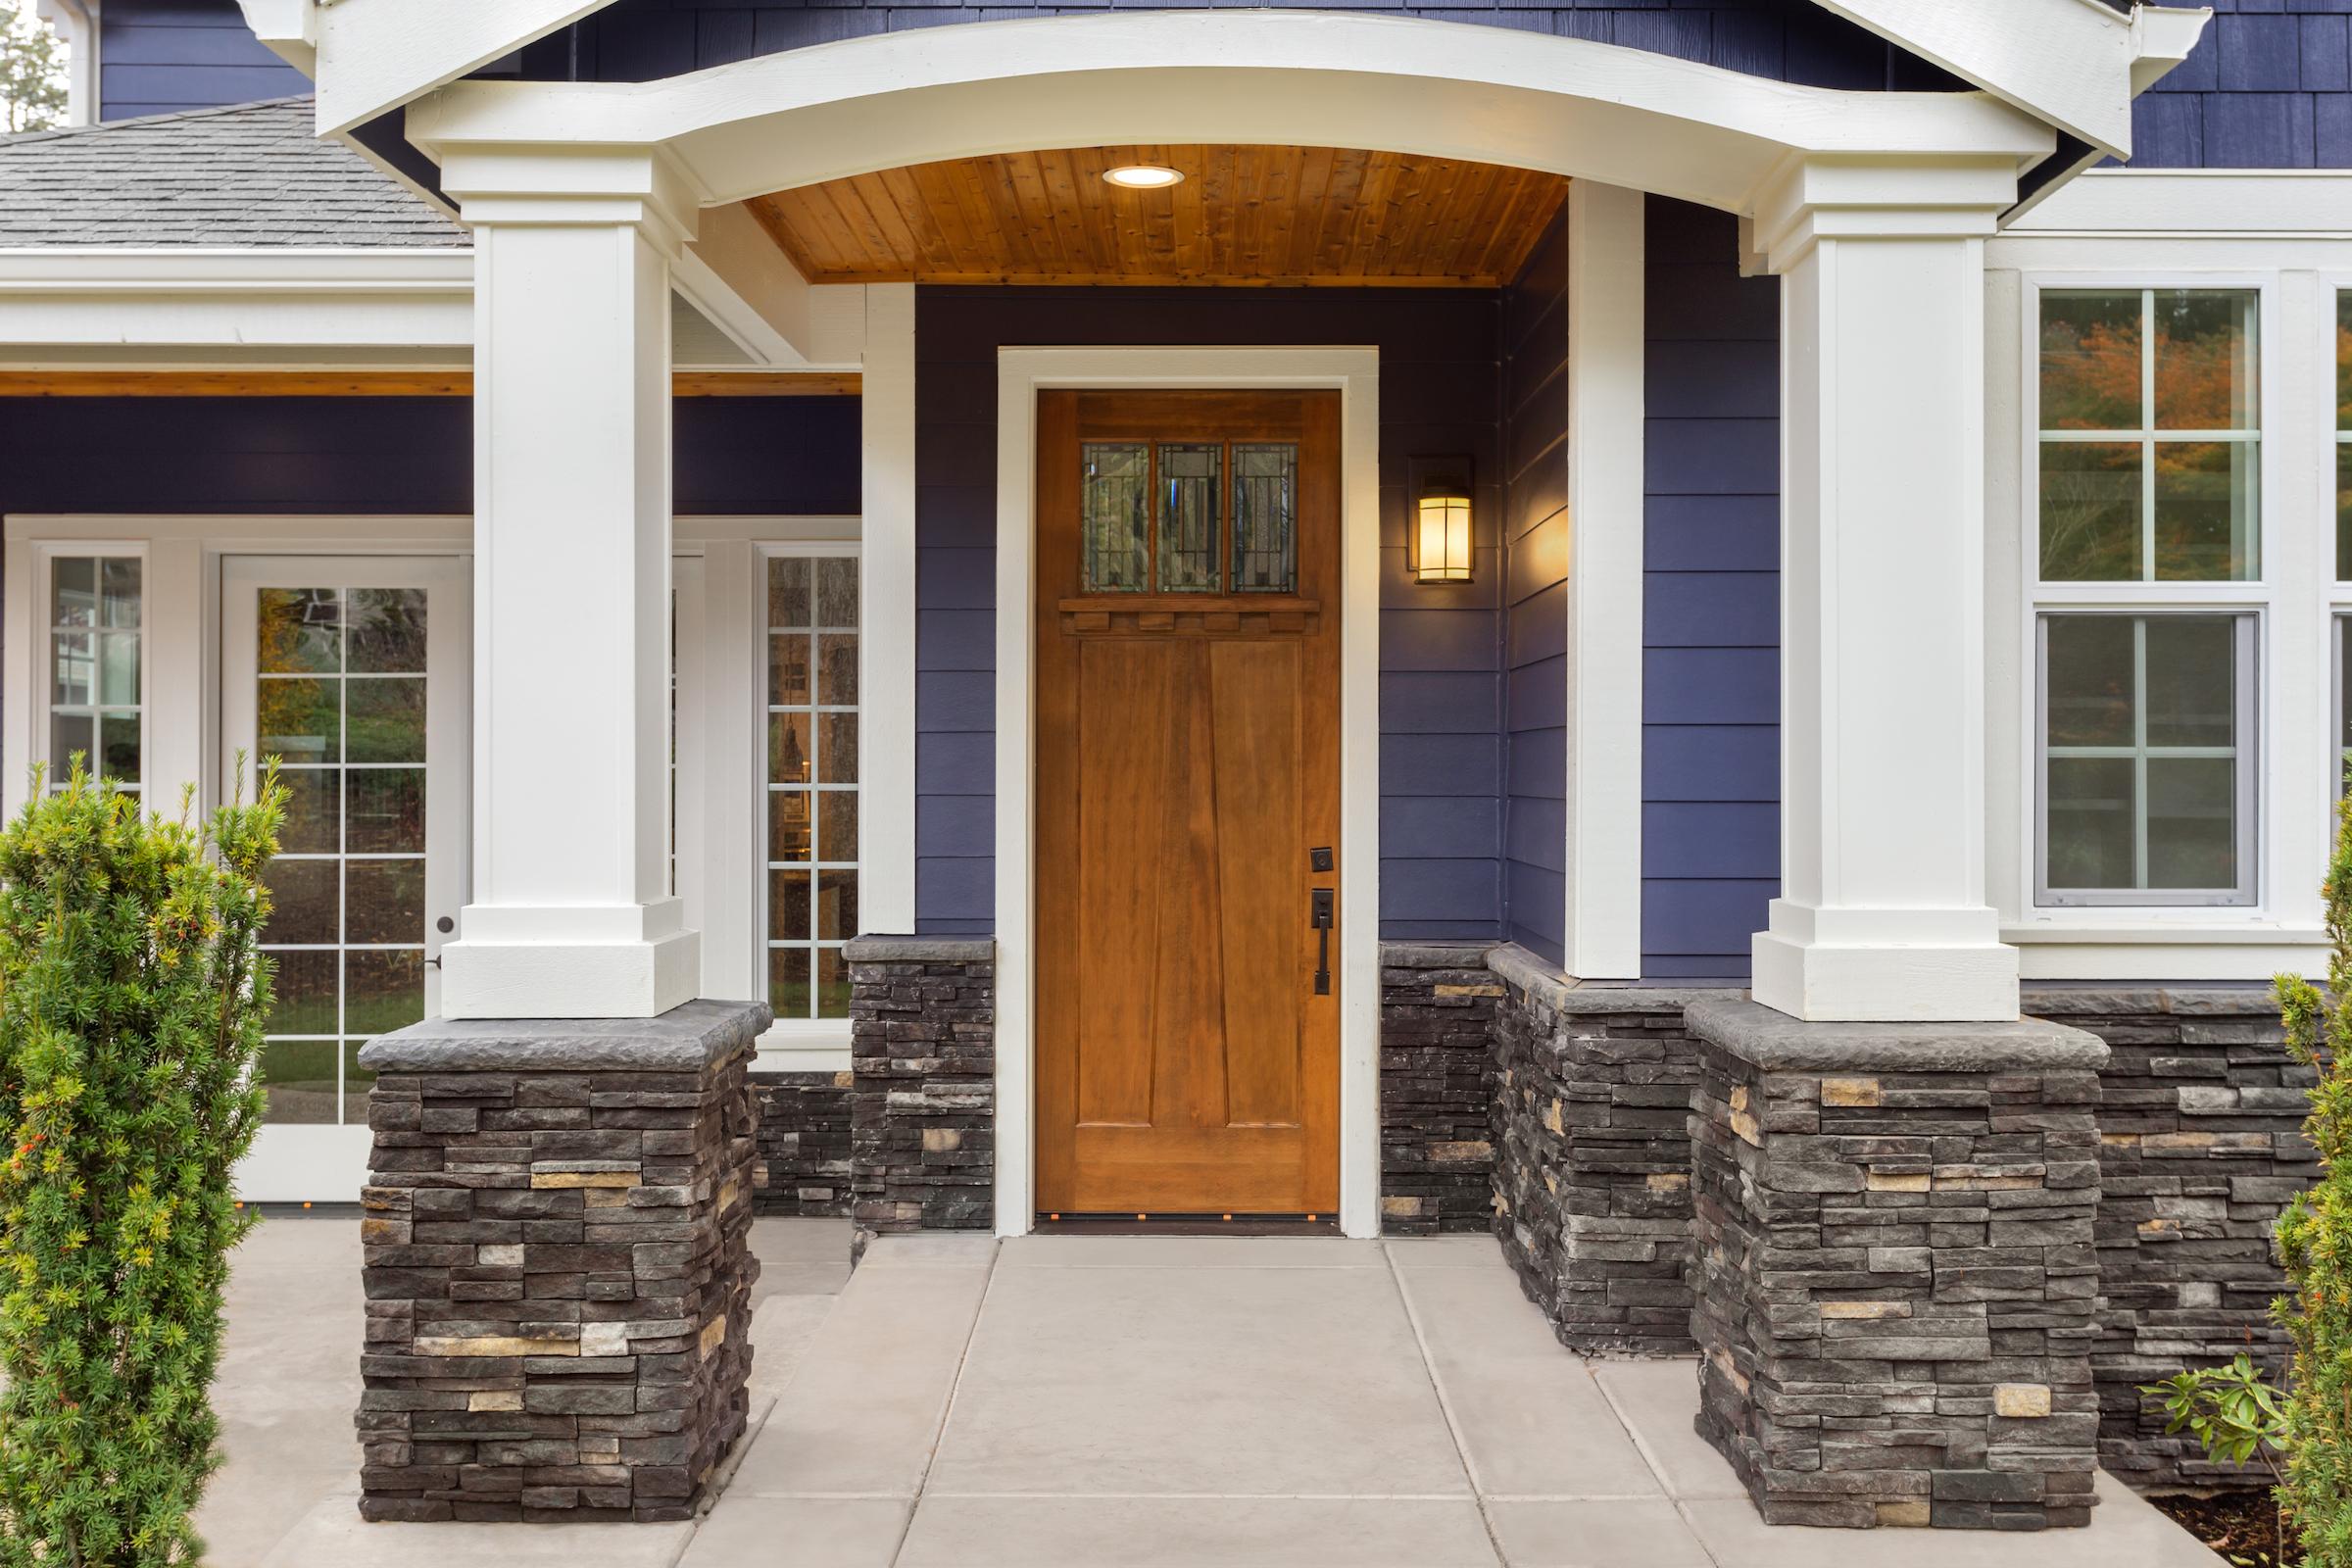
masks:
[[[134,120],[310,92],[261,47],[238,0],[106,0],[99,12],[99,118]]]

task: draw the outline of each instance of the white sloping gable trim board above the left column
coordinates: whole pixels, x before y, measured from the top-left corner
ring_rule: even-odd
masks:
[[[318,45],[318,127],[346,132],[612,0],[242,0],[303,5]]]

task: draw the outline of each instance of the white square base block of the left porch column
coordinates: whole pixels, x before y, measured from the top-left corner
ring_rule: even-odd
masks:
[[[659,1018],[694,1001],[701,931],[619,943],[442,945],[442,1018]]]

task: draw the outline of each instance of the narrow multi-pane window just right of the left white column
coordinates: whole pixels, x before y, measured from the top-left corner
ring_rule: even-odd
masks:
[[[779,1023],[849,1018],[858,933],[858,557],[767,559],[767,990]]]

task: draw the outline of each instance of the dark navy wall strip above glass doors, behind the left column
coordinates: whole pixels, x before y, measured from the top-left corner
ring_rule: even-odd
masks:
[[[677,510],[856,512],[856,397],[682,397]],[[7,397],[0,512],[470,512],[466,397]]]

